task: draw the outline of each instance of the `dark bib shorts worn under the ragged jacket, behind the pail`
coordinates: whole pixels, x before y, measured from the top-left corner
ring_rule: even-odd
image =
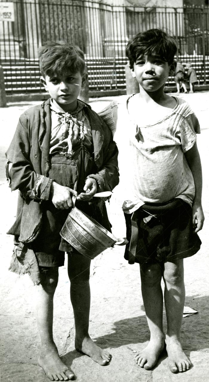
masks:
[[[78,183],[84,184],[85,174],[90,166],[89,154],[82,146],[76,151],[74,160],[68,159],[65,155],[53,155],[50,158],[49,176],[61,186],[74,188]],[[86,155],[85,155],[86,154]],[[79,160],[80,167],[76,168],[76,161]],[[80,173],[77,169],[81,170]],[[90,166],[89,171],[92,168]],[[80,191],[79,184],[76,189]],[[95,200],[96,199],[96,200]],[[103,201],[104,203],[104,201]],[[76,207],[82,210],[87,215],[94,218],[103,227],[110,230],[110,223],[105,219],[100,208],[100,199],[94,198],[90,202],[77,202]],[[42,214],[42,228],[37,238],[31,243],[31,248],[36,254],[39,266],[42,267],[60,267],[64,265],[64,252],[73,251],[72,246],[60,237],[60,231],[67,219],[69,210],[58,210],[51,201],[45,202]],[[103,218],[104,216],[104,218]],[[61,241],[60,241],[61,240]]]

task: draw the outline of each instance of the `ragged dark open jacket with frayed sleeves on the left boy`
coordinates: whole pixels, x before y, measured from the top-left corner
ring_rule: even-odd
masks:
[[[84,112],[92,129],[98,191],[112,191],[119,182],[118,149],[112,133],[87,104]],[[41,227],[42,206],[50,198],[49,146],[51,134],[50,99],[29,108],[19,118],[15,135],[6,152],[11,168],[11,190],[19,189],[16,221],[8,234],[22,243],[32,242]]]

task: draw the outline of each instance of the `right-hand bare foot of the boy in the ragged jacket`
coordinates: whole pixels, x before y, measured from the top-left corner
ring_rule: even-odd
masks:
[[[112,359],[109,351],[99,348],[90,337],[85,337],[82,343],[79,340],[75,340],[75,348],[80,353],[91,357],[94,362],[99,363],[101,366],[107,365]]]

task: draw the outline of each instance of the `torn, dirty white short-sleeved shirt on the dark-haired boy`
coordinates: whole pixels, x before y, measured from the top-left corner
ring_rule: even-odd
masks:
[[[167,116],[154,125],[143,126],[140,110],[138,123],[128,111],[134,96],[121,97],[101,112],[111,129],[115,125],[121,199],[129,202],[130,213],[140,204],[164,203],[173,198],[191,206],[194,179],[184,153],[193,147],[200,133],[197,117],[185,100],[173,97],[177,103],[168,109]]]

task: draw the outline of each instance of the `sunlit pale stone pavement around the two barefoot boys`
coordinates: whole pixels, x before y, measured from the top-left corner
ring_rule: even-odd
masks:
[[[206,381],[209,378],[208,331],[208,92],[180,95],[193,107],[201,123],[198,147],[203,164],[204,229],[199,234],[203,244],[195,256],[185,259],[186,306],[198,314],[186,317],[182,324],[182,343],[193,367],[190,371],[172,374],[167,367],[166,354],[152,371],[138,367],[134,352],[149,341],[149,330],[140,291],[138,264],[128,265],[123,259],[123,248],[115,246],[92,261],[91,312],[89,332],[102,348],[109,348],[113,358],[109,366],[99,366],[89,357],[74,349],[74,319],[70,304],[70,285],[66,264],[60,269],[60,279],[55,293],[54,337],[58,350],[76,375],[78,382],[161,382]],[[113,97],[112,97],[113,98]],[[99,111],[112,99],[91,100]],[[117,97],[114,97],[114,99]],[[17,193],[11,193],[4,175],[4,152],[9,145],[20,113],[37,102],[9,104],[0,109],[0,245],[2,255],[0,279],[1,327],[1,382],[46,382],[41,367],[37,365],[39,334],[33,316],[34,286],[28,276],[18,277],[8,271],[13,248],[11,236],[6,231],[15,219]],[[125,235],[125,225],[120,210],[117,188],[110,205],[107,205],[113,233]],[[164,326],[166,330],[165,312]]]

